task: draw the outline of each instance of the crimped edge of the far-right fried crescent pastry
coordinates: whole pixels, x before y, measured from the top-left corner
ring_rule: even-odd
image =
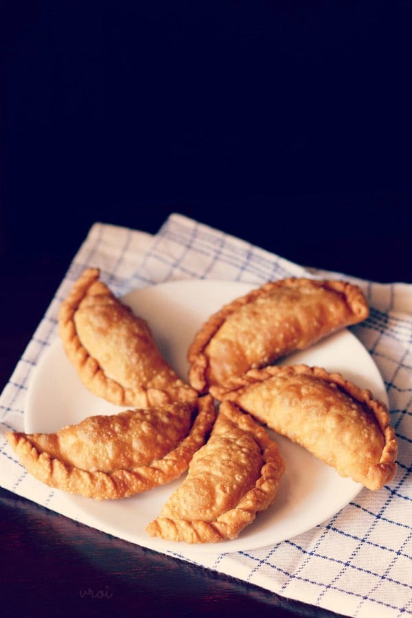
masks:
[[[264,367],[264,369],[251,369],[247,374],[236,380],[236,387],[231,390],[211,387],[210,393],[217,400],[231,400],[233,393],[236,393],[236,396],[241,396],[244,390],[257,382],[263,382],[274,376],[295,374],[314,376],[336,385],[356,401],[365,404],[367,409],[374,414],[380,431],[382,431],[382,435],[385,438],[385,446],[382,449],[380,461],[370,466],[368,470],[366,486],[370,490],[375,491],[380,489],[382,485],[389,483],[395,476],[398,468],[396,464],[396,457],[398,457],[398,442],[396,440],[395,430],[391,426],[391,417],[387,405],[380,400],[376,400],[369,389],[361,389],[357,385],[354,385],[353,382],[350,382],[350,380],[346,380],[338,372],[329,373],[323,367],[310,367],[305,364],[270,365]]]

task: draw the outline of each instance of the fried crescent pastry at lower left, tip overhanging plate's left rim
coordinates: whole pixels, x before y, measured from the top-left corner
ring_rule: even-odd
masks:
[[[211,396],[87,417],[57,433],[6,437],[36,479],[96,500],[132,496],[178,478],[216,418]]]

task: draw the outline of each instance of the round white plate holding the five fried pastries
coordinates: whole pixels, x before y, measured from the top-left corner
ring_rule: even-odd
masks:
[[[212,312],[254,288],[240,282],[208,279],[176,281],[135,290],[122,300],[150,323],[165,358],[187,377],[186,351],[194,334]],[[286,361],[285,361],[286,363]],[[310,350],[287,358],[287,363],[307,363],[340,371],[358,386],[369,388],[387,402],[385,385],[365,347],[348,330],[324,339]],[[65,356],[60,340],[41,358],[27,396],[25,431],[53,432],[94,414],[113,414],[121,408],[93,396],[80,382]],[[146,525],[157,517],[163,503],[181,479],[127,499],[93,501],[69,496],[77,518],[88,525],[163,553],[228,552],[255,549],[292,538],[322,523],[352,501],[362,485],[343,479],[333,468],[306,450],[273,432],[286,460],[286,472],[273,505],[260,514],[239,538],[217,545],[183,545],[146,534]]]

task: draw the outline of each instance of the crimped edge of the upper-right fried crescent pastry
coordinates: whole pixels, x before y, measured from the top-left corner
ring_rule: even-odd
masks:
[[[334,279],[309,279],[306,277],[286,277],[273,282],[267,282],[259,288],[251,290],[244,296],[233,299],[225,304],[216,313],[212,314],[196,335],[187,350],[187,361],[190,363],[189,382],[199,393],[205,393],[208,385],[205,377],[209,360],[204,353],[205,347],[219,330],[225,319],[238,310],[240,307],[249,304],[260,296],[270,295],[273,290],[279,287],[299,287],[302,284],[327,288],[343,294],[348,306],[354,314],[351,324],[356,324],[369,316],[369,306],[361,288],[349,282]],[[350,324],[347,324],[350,325]]]

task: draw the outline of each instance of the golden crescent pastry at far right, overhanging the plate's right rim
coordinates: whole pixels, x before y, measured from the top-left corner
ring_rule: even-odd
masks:
[[[307,365],[251,369],[239,385],[215,395],[236,402],[341,476],[370,490],[395,476],[398,445],[389,411],[369,390]]]

